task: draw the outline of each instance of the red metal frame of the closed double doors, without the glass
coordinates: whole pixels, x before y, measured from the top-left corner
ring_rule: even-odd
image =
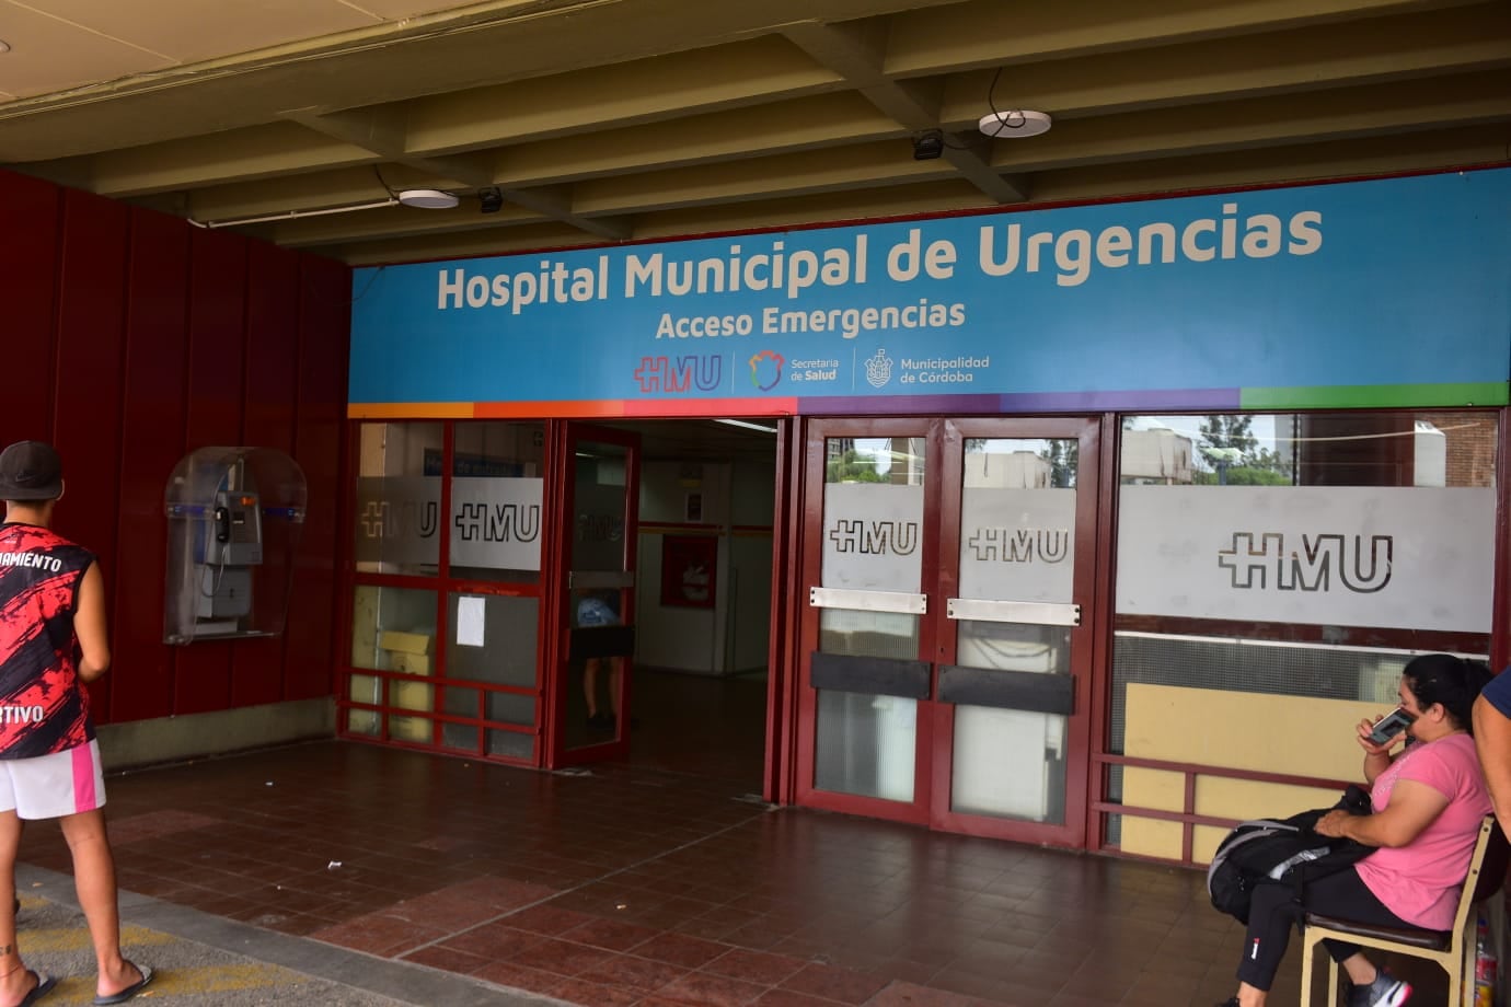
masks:
[[[928,465],[923,480],[923,524],[935,530],[922,540],[923,577],[919,590],[928,596],[928,614],[919,633],[919,660],[932,666],[929,699],[919,701],[914,799],[908,805],[822,791],[813,785],[817,720],[817,690],[810,684],[811,654],[819,646],[817,610],[805,604],[807,589],[822,583],[825,442],[830,438],[925,438]],[[1065,820],[1041,824],[966,815],[950,811],[953,752],[953,705],[938,694],[938,669],[955,660],[955,627],[946,616],[946,599],[959,583],[961,473],[966,438],[1074,438],[1079,445],[1076,480],[1076,569],[1074,602],[1082,607],[1080,625],[1071,631],[1074,713],[1067,725]],[[795,516],[801,515],[801,550],[796,595],[789,613],[798,625],[796,652],[790,667],[796,679],[789,690],[796,699],[793,797],[798,803],[845,814],[928,824],[929,827],[1018,842],[1085,847],[1089,802],[1089,762],[1094,720],[1094,669],[1103,658],[1097,633],[1102,598],[1097,590],[1098,513],[1103,465],[1102,417],[1049,418],[882,418],[810,420],[795,447],[802,450],[802,492]],[[790,471],[790,468],[787,470]],[[798,522],[793,522],[798,524]]]

